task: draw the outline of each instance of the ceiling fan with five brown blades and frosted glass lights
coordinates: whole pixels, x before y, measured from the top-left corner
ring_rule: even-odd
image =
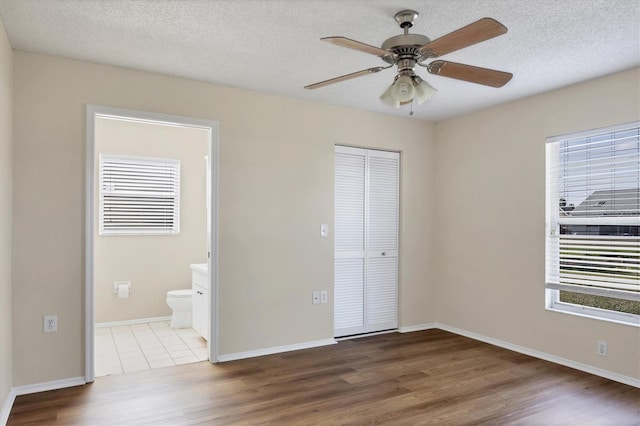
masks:
[[[324,37],[320,40],[349,49],[359,50],[378,56],[385,61],[387,66],[372,67],[362,71],[356,71],[340,77],[332,78],[305,86],[305,89],[317,89],[340,81],[350,80],[367,74],[374,74],[382,70],[398,67],[393,84],[380,96],[382,102],[396,108],[400,105],[411,103],[414,99],[422,104],[431,99],[437,92],[429,83],[415,73],[415,66],[427,69],[430,74],[455,78],[471,83],[482,84],[491,87],[502,87],[513,77],[513,74],[496,71],[472,65],[456,62],[436,60],[428,64],[424,61],[438,58],[447,53],[489,40],[507,32],[507,28],[500,22],[491,18],[482,18],[452,33],[431,41],[421,34],[409,34],[409,28],[418,17],[414,10],[402,10],[395,14],[394,18],[404,30],[404,34],[388,38],[381,47],[375,47],[346,37]]]

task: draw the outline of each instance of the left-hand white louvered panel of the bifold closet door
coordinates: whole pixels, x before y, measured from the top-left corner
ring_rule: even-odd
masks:
[[[336,146],[334,217],[334,334],[364,328],[366,151]]]

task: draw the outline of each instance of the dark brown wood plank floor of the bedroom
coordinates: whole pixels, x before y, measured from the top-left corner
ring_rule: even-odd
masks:
[[[8,425],[640,425],[640,389],[441,330],[100,377]]]

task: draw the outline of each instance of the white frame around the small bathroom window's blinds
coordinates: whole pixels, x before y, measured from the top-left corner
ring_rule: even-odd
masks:
[[[120,162],[120,164],[147,164],[152,166],[168,166],[173,168],[173,191],[170,192],[170,196],[173,197],[173,220],[171,227],[157,227],[157,228],[105,228],[104,224],[104,207],[105,207],[105,195],[103,184],[103,165],[106,162]],[[165,193],[168,195],[169,193]],[[126,194],[123,194],[126,196]],[[134,196],[131,194],[131,196]],[[160,194],[157,194],[160,196]],[[180,234],[180,160],[171,158],[159,158],[159,157],[147,157],[147,156],[132,156],[132,155],[119,155],[101,153],[98,159],[98,235],[99,236],[147,236],[147,235],[178,235]]]

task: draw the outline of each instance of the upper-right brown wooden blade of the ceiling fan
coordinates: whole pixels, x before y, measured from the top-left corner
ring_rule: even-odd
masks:
[[[420,48],[420,54],[428,58],[454,52],[463,47],[489,40],[507,32],[507,27],[491,18],[482,18],[472,24],[433,40]]]

